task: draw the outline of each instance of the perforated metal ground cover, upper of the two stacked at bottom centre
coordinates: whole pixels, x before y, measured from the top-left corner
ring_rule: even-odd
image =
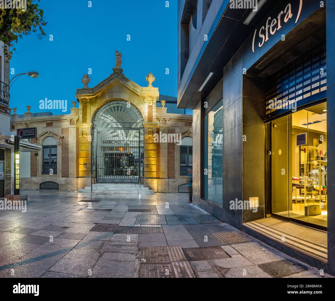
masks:
[[[171,263],[186,260],[180,246],[141,248],[141,263]]]

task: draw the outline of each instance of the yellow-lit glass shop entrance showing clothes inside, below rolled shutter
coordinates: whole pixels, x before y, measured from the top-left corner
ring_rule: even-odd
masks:
[[[327,228],[327,103],[272,122],[272,214]]]

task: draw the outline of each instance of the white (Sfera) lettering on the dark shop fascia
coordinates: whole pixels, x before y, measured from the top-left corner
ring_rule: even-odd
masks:
[[[300,0],[299,10],[296,12],[295,23],[297,23],[299,20],[302,8],[303,8],[303,0]],[[288,3],[285,9],[279,12],[277,17],[275,18],[268,17],[266,20],[266,24],[262,26],[261,28],[256,28],[255,30],[254,39],[252,43],[252,51],[255,52],[255,40],[256,40],[257,33],[260,38],[260,41],[258,42],[258,47],[262,47],[265,44],[265,42],[270,40],[270,35],[273,36],[293,16],[294,16],[294,12],[292,11],[292,4]]]

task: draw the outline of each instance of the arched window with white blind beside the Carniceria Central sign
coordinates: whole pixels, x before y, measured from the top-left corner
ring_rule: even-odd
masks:
[[[57,174],[57,141],[49,136],[43,140],[42,175]]]

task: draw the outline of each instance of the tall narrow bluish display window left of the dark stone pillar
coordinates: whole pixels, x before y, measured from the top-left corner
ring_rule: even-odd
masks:
[[[205,116],[205,198],[222,205],[222,101]]]

